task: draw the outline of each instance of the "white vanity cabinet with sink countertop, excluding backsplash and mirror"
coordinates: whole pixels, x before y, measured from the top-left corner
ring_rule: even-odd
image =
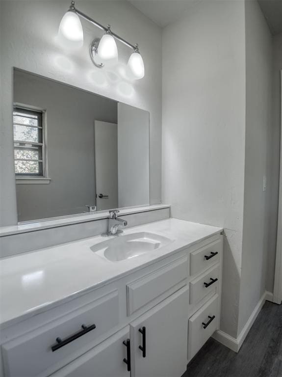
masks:
[[[219,328],[222,246],[169,218],[2,259],[0,375],[180,377]]]

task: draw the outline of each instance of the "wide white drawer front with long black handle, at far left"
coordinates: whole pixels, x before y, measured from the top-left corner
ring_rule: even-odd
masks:
[[[48,367],[95,342],[119,323],[118,291],[114,291],[63,317],[2,345],[5,376],[38,376]],[[94,326],[90,327],[91,325]],[[82,334],[82,325],[92,328],[63,347],[53,350],[59,337],[64,342]],[[65,343],[65,342],[64,342]],[[63,344],[64,344],[63,343]]]

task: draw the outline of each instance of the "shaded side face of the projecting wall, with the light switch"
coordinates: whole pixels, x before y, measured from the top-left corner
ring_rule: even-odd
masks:
[[[271,229],[272,39],[257,1],[245,1],[246,145],[238,334],[265,292]],[[266,191],[263,191],[266,176]],[[277,178],[277,177],[276,177]],[[275,198],[277,202],[277,198]]]

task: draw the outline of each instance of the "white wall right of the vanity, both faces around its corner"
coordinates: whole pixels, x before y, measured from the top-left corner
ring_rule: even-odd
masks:
[[[272,122],[272,41],[256,1],[203,1],[164,29],[163,198],[175,217],[225,228],[221,330],[235,338],[273,288],[281,39]]]

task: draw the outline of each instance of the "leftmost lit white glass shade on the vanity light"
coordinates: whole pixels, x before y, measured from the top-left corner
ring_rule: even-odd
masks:
[[[83,29],[75,12],[69,10],[64,14],[59,26],[59,35],[73,42],[76,46],[82,46]]]

